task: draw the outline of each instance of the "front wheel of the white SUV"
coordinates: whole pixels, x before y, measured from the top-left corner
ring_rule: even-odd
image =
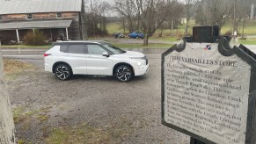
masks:
[[[120,82],[128,82],[133,77],[132,68],[126,65],[121,65],[118,68],[116,68],[114,74],[117,80]]]

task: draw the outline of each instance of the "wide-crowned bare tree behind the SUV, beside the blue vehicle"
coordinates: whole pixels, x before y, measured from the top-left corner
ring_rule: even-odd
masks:
[[[114,8],[126,18],[130,32],[145,34],[143,45],[147,46],[149,37],[165,22],[170,3],[171,0],[115,0]]]

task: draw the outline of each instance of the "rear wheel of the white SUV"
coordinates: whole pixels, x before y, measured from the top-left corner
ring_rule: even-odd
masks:
[[[71,77],[71,69],[66,64],[59,64],[55,67],[55,76],[62,81],[69,80]]]

